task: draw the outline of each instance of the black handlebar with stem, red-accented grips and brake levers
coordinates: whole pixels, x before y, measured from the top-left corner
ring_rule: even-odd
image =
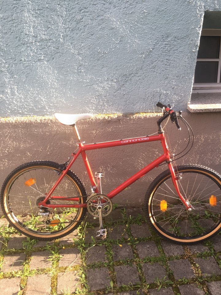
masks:
[[[163,120],[165,120],[169,116],[170,116],[171,122],[176,124],[176,127],[178,130],[181,130],[177,119],[182,118],[181,116],[182,111],[179,111],[179,112],[173,111],[170,104],[165,105],[165,104],[162,104],[161,102],[157,103],[157,107],[160,107],[161,109],[164,108],[164,112],[163,112],[164,115],[157,121],[158,133],[163,133],[161,123],[163,122]]]

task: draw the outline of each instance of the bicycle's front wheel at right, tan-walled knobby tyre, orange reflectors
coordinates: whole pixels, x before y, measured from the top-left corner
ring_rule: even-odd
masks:
[[[180,193],[192,210],[186,210],[179,199],[168,170],[151,183],[145,195],[147,219],[158,234],[173,242],[206,240],[221,228],[221,176],[204,166],[184,165],[177,170]]]

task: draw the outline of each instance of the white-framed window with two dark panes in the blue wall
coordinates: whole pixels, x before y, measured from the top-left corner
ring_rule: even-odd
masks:
[[[203,29],[192,93],[221,92],[221,29]]]

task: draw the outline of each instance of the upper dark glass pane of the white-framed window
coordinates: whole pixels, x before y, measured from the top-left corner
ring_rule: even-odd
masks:
[[[201,36],[197,58],[219,58],[220,36]]]

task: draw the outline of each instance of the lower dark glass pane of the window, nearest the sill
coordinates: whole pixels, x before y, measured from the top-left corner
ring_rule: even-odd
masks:
[[[218,61],[197,61],[194,83],[217,83]]]

